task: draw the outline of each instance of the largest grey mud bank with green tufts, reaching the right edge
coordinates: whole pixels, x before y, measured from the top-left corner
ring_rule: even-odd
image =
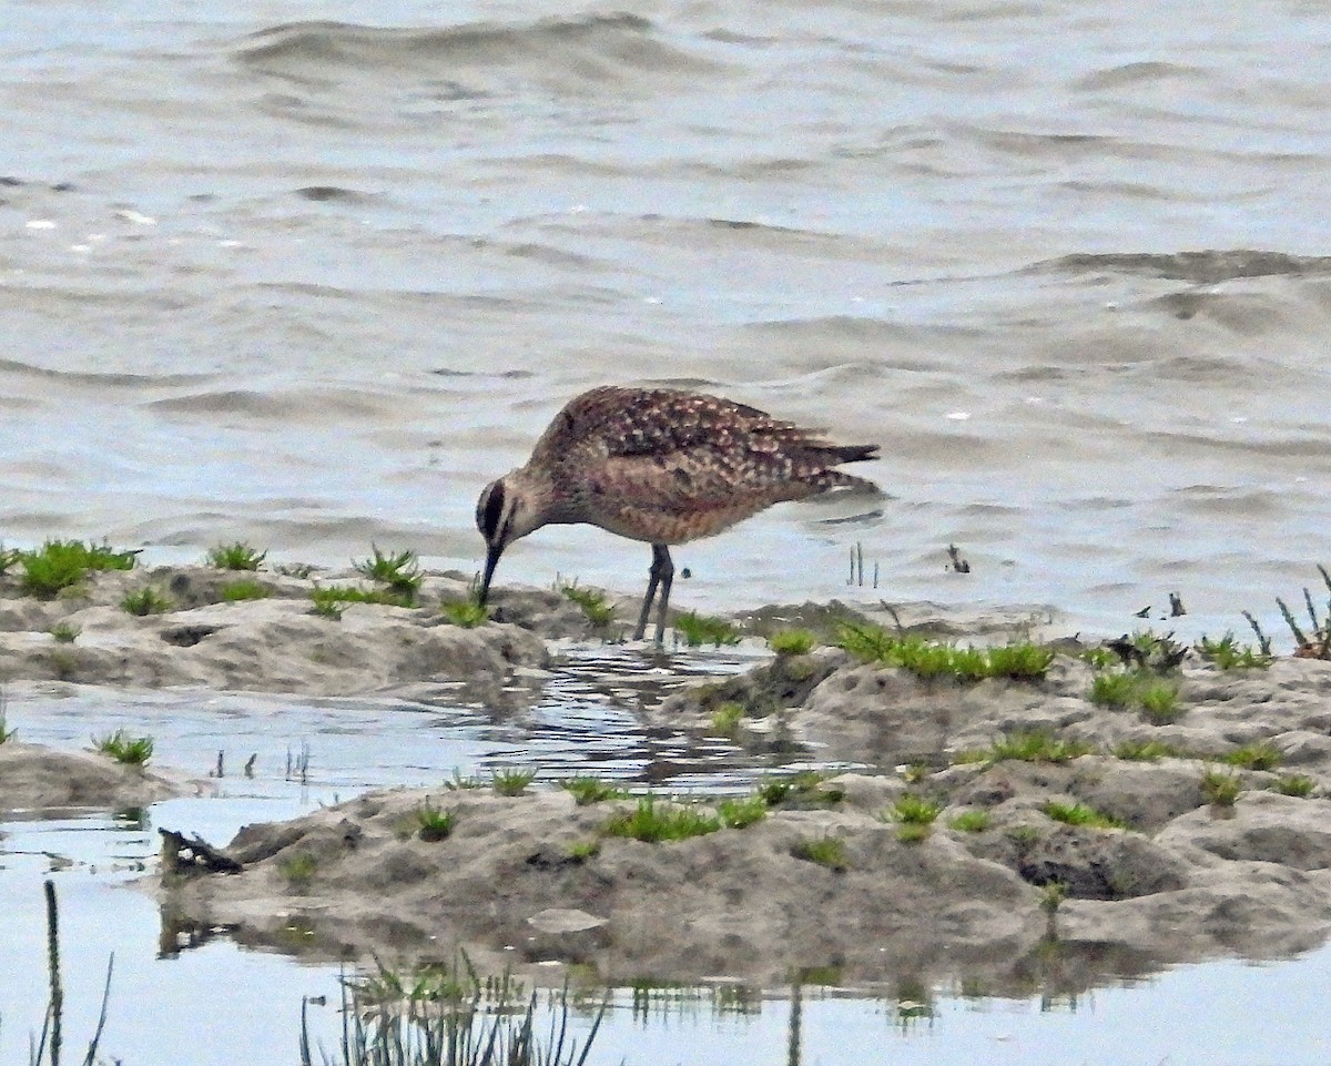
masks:
[[[1177,720],[1157,725],[1093,703],[1094,671],[1070,655],[1045,680],[978,684],[835,649],[804,659],[652,712],[705,731],[719,700],[744,697],[757,747],[781,732],[792,757],[868,767],[745,828],[658,844],[607,829],[638,800],[395,791],[249,826],[228,849],[242,873],[169,877],[165,898],[272,941],[294,922],[311,949],[347,957],[510,946],[612,981],[832,968],[1022,991],[1051,965],[1085,986],[1276,958],[1331,932],[1331,664],[1189,661],[1169,673]],[[996,747],[1022,736],[1053,747]],[[937,808],[932,824],[910,824],[912,800]],[[419,838],[426,808],[453,816],[447,838]],[[811,857],[825,840],[835,854]]]

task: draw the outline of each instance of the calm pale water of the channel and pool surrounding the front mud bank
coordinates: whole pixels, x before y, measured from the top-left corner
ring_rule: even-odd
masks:
[[[684,672],[728,672],[740,649],[684,657]],[[677,683],[668,679],[664,684]],[[663,685],[651,656],[583,649],[560,665],[543,699],[506,721],[446,704],[386,699],[306,700],[244,693],[109,692],[72,685],[11,687],[8,717],[21,737],[63,748],[89,732],[149,731],[154,759],[198,771],[200,795],[145,812],[77,813],[0,822],[0,901],[8,916],[0,968],[0,1062],[25,1062],[29,1030],[45,1007],[41,881],[61,901],[67,1050],[96,1025],[108,958],[114,956],[102,1053],[142,1066],[295,1061],[302,999],[311,1037],[338,1039],[338,968],[302,960],[301,932],[253,945],[225,929],[182,930],[134,881],[156,869],[157,828],[226,841],[252,821],[289,818],[369,788],[437,784],[498,765],[539,765],[542,775],[612,773],[655,789],[743,787],[760,768],[723,744],[643,731],[627,712]],[[520,740],[520,737],[526,737]],[[305,780],[286,752],[310,753]],[[217,751],[230,769],[206,777]],[[253,777],[240,773],[257,753]],[[294,780],[293,780],[294,777]],[[640,784],[639,787],[643,787]],[[281,954],[289,953],[289,954]],[[1328,1033],[1316,989],[1331,977],[1331,950],[1279,965],[1238,961],[1178,966],[1162,974],[1103,973],[1086,960],[1050,954],[1024,995],[989,998],[965,982],[841,986],[811,974],[797,998],[717,979],[699,987],[616,989],[591,1062],[672,1066],[697,1061],[861,1063],[888,1055],[921,1063],[1322,1062]],[[562,970],[547,976],[551,986]],[[220,990],[225,989],[225,994]],[[584,1037],[599,990],[582,990],[572,1033]],[[1243,1009],[1236,1010],[1235,1003]],[[1254,1023],[1254,1019],[1260,1023]],[[238,1019],[244,1019],[240,1023]],[[792,1058],[792,1042],[799,1058]]]

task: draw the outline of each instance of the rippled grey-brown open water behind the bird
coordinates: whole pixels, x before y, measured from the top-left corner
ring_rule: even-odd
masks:
[[[671,381],[881,443],[890,494],[681,550],[681,604],[1118,633],[1178,591],[1283,632],[1331,467],[1328,37],[1229,0],[16,4],[0,535],[471,571],[566,398]],[[550,528],[499,579],[646,564]]]

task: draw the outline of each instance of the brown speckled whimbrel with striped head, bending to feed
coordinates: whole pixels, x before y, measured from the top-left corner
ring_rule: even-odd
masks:
[[[652,546],[634,639],[647,631],[659,590],[660,644],[675,576],[669,544],[712,536],[783,500],[831,488],[876,491],[872,482],[835,467],[873,459],[877,451],[877,444],[833,444],[820,430],[720,397],[679,389],[592,389],[555,415],[526,466],[480,494],[476,527],[486,539],[480,603],[508,544],[542,526],[587,522]]]

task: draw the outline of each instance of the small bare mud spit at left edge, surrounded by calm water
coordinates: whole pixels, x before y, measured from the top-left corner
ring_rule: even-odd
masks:
[[[197,792],[181,775],[126,767],[96,752],[0,744],[0,813],[55,817],[76,808],[122,810]]]

